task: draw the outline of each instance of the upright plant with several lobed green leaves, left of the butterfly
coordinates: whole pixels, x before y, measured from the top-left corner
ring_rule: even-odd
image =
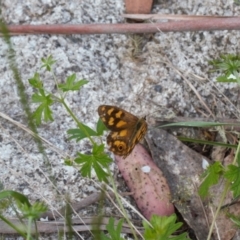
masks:
[[[55,60],[52,58],[52,56],[41,60],[41,68],[45,68],[46,71],[51,72],[53,78],[55,79],[52,71],[52,66],[55,63]],[[39,73],[35,73],[34,76],[29,79],[29,83],[35,89],[35,93],[32,95],[32,101],[38,105],[32,115],[36,124],[40,125],[42,121],[53,121],[54,118],[51,106],[54,103],[61,103],[72,119],[76,122],[78,127],[75,129],[69,129],[67,131],[70,136],[69,138],[75,139],[76,141],[88,138],[93,146],[91,154],[83,154],[78,152],[77,157],[74,160],[75,163],[81,165],[80,172],[82,176],[90,178],[91,171],[94,169],[99,181],[107,182],[108,173],[104,169],[108,168],[112,160],[106,153],[104,153],[104,145],[96,143],[92,138],[95,136],[101,136],[103,134],[103,131],[106,129],[104,124],[99,120],[96,130],[89,128],[76,118],[65,101],[68,92],[79,91],[81,87],[88,83],[88,81],[85,79],[77,80],[76,74],[68,76],[65,83],[60,84],[55,81],[57,89],[59,90],[59,95],[54,95],[44,88],[44,83],[41,80]],[[72,165],[72,162],[69,159],[66,159],[66,164]]]

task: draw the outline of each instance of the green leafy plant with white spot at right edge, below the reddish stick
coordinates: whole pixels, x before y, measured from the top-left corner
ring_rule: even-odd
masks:
[[[234,82],[240,84],[240,56],[227,54],[221,55],[219,59],[209,61],[214,71],[220,71],[221,76],[217,77],[218,82]]]

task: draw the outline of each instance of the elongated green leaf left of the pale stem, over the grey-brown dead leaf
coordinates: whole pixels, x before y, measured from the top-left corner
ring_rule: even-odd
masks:
[[[205,198],[208,194],[209,188],[218,183],[218,180],[222,174],[223,166],[220,162],[215,162],[214,164],[209,165],[203,174],[205,179],[198,189],[199,195]]]

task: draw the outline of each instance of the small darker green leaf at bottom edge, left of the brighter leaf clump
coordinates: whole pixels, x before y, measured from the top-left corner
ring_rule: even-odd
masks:
[[[107,237],[104,233],[101,233],[100,240],[124,240],[124,238],[121,237],[123,219],[118,221],[116,228],[115,225],[116,224],[114,224],[114,218],[110,217],[108,224],[106,226],[106,229],[110,237]]]

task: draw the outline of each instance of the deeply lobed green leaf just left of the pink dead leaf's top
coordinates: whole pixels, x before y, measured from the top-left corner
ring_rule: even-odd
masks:
[[[99,181],[107,182],[108,174],[104,171],[104,168],[109,166],[112,159],[104,153],[104,144],[94,144],[92,154],[78,153],[78,157],[74,161],[82,165],[80,172],[83,177],[91,178],[93,169]]]

